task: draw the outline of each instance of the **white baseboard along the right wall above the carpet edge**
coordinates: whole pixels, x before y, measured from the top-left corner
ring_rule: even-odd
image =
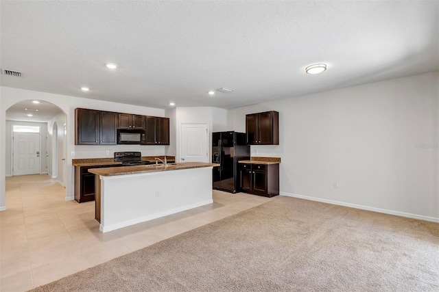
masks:
[[[396,215],[396,216],[401,216],[401,217],[407,217],[407,218],[412,218],[412,219],[418,219],[418,220],[424,220],[424,221],[439,223],[439,217],[429,217],[429,216],[424,216],[424,215],[417,215],[417,214],[405,213],[405,212],[400,212],[400,211],[393,211],[393,210],[388,210],[388,209],[368,207],[368,206],[363,206],[363,205],[359,205],[359,204],[351,204],[351,203],[339,202],[339,201],[334,201],[334,200],[327,200],[327,199],[322,199],[322,198],[315,198],[315,197],[309,197],[309,196],[301,196],[301,195],[298,195],[298,194],[289,194],[289,193],[284,193],[284,192],[281,192],[280,195],[281,196],[287,196],[287,197],[300,198],[300,199],[305,199],[305,200],[311,200],[311,201],[316,201],[316,202],[323,202],[323,203],[328,203],[328,204],[336,204],[336,205],[344,206],[344,207],[350,207],[350,208],[355,208],[355,209],[361,209],[361,210],[367,210],[367,211],[373,211],[373,212],[378,212],[378,213],[384,213],[384,214],[390,214],[390,215]]]

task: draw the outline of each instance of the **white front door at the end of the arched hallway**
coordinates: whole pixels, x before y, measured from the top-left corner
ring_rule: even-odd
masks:
[[[16,175],[40,173],[40,134],[14,132],[14,168]]]

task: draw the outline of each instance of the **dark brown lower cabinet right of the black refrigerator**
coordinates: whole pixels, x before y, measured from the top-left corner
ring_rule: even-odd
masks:
[[[241,191],[258,196],[279,194],[279,165],[239,163]]]

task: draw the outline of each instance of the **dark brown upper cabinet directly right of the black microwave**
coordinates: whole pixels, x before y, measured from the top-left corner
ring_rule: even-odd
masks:
[[[146,145],[169,145],[169,118],[147,116]]]

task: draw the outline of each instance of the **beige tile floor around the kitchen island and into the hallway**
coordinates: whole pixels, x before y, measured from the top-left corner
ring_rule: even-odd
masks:
[[[6,178],[0,291],[27,291],[272,200],[213,191],[213,204],[103,234],[95,202],[64,197],[45,174]]]

